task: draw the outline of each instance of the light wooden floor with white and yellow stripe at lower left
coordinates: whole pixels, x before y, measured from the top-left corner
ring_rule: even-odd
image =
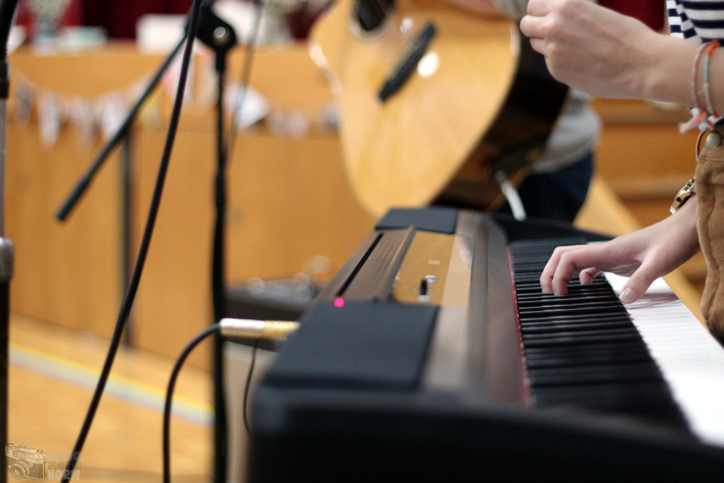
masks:
[[[49,462],[67,458],[108,345],[87,333],[11,316],[8,442],[43,450]],[[165,358],[119,350],[80,454],[80,481],[161,481],[161,411],[171,368]],[[171,428],[174,482],[211,479],[212,389],[206,371],[182,370]]]

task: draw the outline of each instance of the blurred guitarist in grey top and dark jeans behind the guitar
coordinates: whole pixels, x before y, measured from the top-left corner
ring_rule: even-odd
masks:
[[[473,14],[518,22],[528,0],[449,0]],[[594,172],[594,148],[601,122],[590,98],[571,90],[548,138],[547,146],[518,186],[528,217],[573,222],[583,206]],[[510,213],[505,203],[501,211]]]

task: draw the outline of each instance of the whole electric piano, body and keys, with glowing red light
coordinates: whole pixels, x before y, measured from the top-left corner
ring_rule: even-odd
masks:
[[[724,350],[662,282],[541,293],[563,237],[603,238],[390,211],[256,386],[248,481],[719,482]]]

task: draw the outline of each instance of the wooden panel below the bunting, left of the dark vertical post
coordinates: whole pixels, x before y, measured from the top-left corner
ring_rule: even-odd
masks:
[[[9,123],[6,233],[15,247],[11,309],[99,335],[112,333],[122,284],[119,161],[111,157],[67,222],[55,219],[90,163],[70,130],[44,147],[37,125]]]

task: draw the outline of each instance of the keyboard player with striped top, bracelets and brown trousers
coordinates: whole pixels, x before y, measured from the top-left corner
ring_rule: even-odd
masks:
[[[629,277],[620,299],[631,303],[701,248],[707,263],[702,312],[724,341],[724,130],[717,114],[724,112],[724,0],[666,5],[670,35],[586,0],[529,1],[521,31],[554,77],[594,96],[691,106],[691,120],[681,128],[702,131],[695,181],[683,188],[694,196],[678,198],[670,217],[643,230],[557,248],[540,283],[562,295],[577,271],[582,283],[614,272]]]

